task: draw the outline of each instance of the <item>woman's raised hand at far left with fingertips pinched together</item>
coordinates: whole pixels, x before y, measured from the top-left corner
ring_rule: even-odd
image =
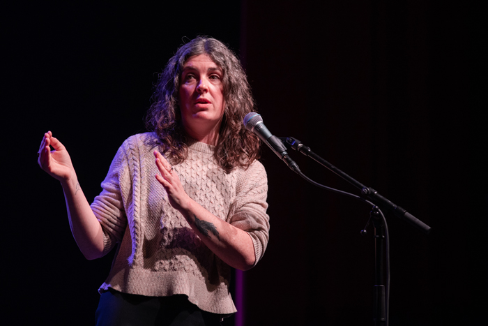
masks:
[[[49,146],[52,146],[54,151],[51,151]],[[57,138],[52,137],[51,131],[44,134],[38,154],[40,168],[55,179],[63,182],[75,177],[75,169],[71,163],[70,154]]]

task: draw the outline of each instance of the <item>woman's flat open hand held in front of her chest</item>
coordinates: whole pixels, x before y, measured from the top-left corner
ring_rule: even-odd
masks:
[[[165,187],[171,206],[182,212],[190,205],[191,199],[185,193],[178,174],[166,158],[159,151],[154,151],[154,156],[156,158],[156,166],[158,166],[158,170],[161,173],[161,175],[156,175],[156,179]]]

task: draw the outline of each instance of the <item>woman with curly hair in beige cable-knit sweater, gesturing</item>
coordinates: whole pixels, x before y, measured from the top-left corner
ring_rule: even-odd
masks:
[[[125,140],[91,206],[50,131],[38,163],[61,181],[85,257],[117,246],[98,325],[218,325],[236,312],[231,267],[250,269],[268,243],[266,172],[242,124],[250,87],[225,45],[195,38],[169,60],[154,100],[153,132]]]

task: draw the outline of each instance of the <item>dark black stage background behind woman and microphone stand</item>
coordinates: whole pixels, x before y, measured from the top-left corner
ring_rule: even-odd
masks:
[[[241,57],[270,131],[432,227],[424,235],[386,216],[390,325],[486,325],[487,33],[477,3],[3,5],[6,325],[93,324],[112,260],[79,253],[61,186],[36,162],[43,133],[66,145],[92,200],[123,140],[144,132],[157,74],[199,34]],[[358,193],[291,155],[312,179]],[[372,325],[373,230],[360,236],[369,207],[307,184],[267,148],[261,161],[270,242],[245,272],[245,325]]]

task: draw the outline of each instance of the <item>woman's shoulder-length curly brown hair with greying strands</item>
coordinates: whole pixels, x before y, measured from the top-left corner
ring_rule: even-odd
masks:
[[[207,54],[223,73],[224,117],[213,156],[226,172],[236,166],[248,168],[259,159],[259,138],[247,131],[243,119],[254,112],[254,100],[247,77],[236,55],[219,40],[199,36],[182,45],[160,73],[153,104],[146,116],[146,128],[158,135],[162,152],[174,163],[185,160],[188,146],[181,123],[178,89],[183,65],[199,54]]]

